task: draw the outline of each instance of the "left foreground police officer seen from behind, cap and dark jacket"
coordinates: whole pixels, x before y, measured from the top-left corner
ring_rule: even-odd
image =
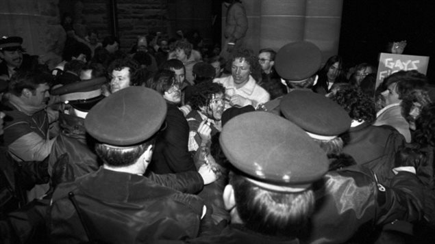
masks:
[[[55,190],[52,241],[150,243],[199,234],[202,200],[142,176],[165,115],[162,96],[145,87],[127,87],[90,109],[85,127],[103,167]]]

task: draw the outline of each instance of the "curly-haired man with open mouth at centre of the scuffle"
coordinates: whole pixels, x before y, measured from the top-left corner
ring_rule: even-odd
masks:
[[[223,98],[225,87],[219,83],[203,82],[192,89],[190,105],[192,111],[186,116],[189,124],[189,151],[196,152],[200,146],[210,143],[211,136],[221,131],[221,117],[223,113]],[[210,137],[202,138],[199,125],[206,121],[210,128]],[[208,128],[207,128],[208,131]]]

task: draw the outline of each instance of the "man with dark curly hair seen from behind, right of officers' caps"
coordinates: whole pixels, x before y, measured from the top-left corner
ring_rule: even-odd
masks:
[[[327,96],[352,119],[349,131],[341,136],[345,142],[343,152],[351,155],[357,164],[373,170],[380,182],[393,178],[395,154],[405,144],[405,137],[392,126],[373,126],[375,103],[359,87],[340,85]]]

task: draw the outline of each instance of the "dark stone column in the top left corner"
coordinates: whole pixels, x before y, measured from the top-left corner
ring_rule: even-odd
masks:
[[[66,33],[60,25],[58,1],[0,1],[0,35],[21,36],[23,47],[31,55],[60,55]]]

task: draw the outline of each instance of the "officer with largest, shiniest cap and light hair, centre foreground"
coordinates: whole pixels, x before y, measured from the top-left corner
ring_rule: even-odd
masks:
[[[232,165],[223,191],[231,224],[192,243],[299,243],[316,206],[312,183],[327,172],[325,152],[301,128],[264,111],[229,120],[220,142]]]

